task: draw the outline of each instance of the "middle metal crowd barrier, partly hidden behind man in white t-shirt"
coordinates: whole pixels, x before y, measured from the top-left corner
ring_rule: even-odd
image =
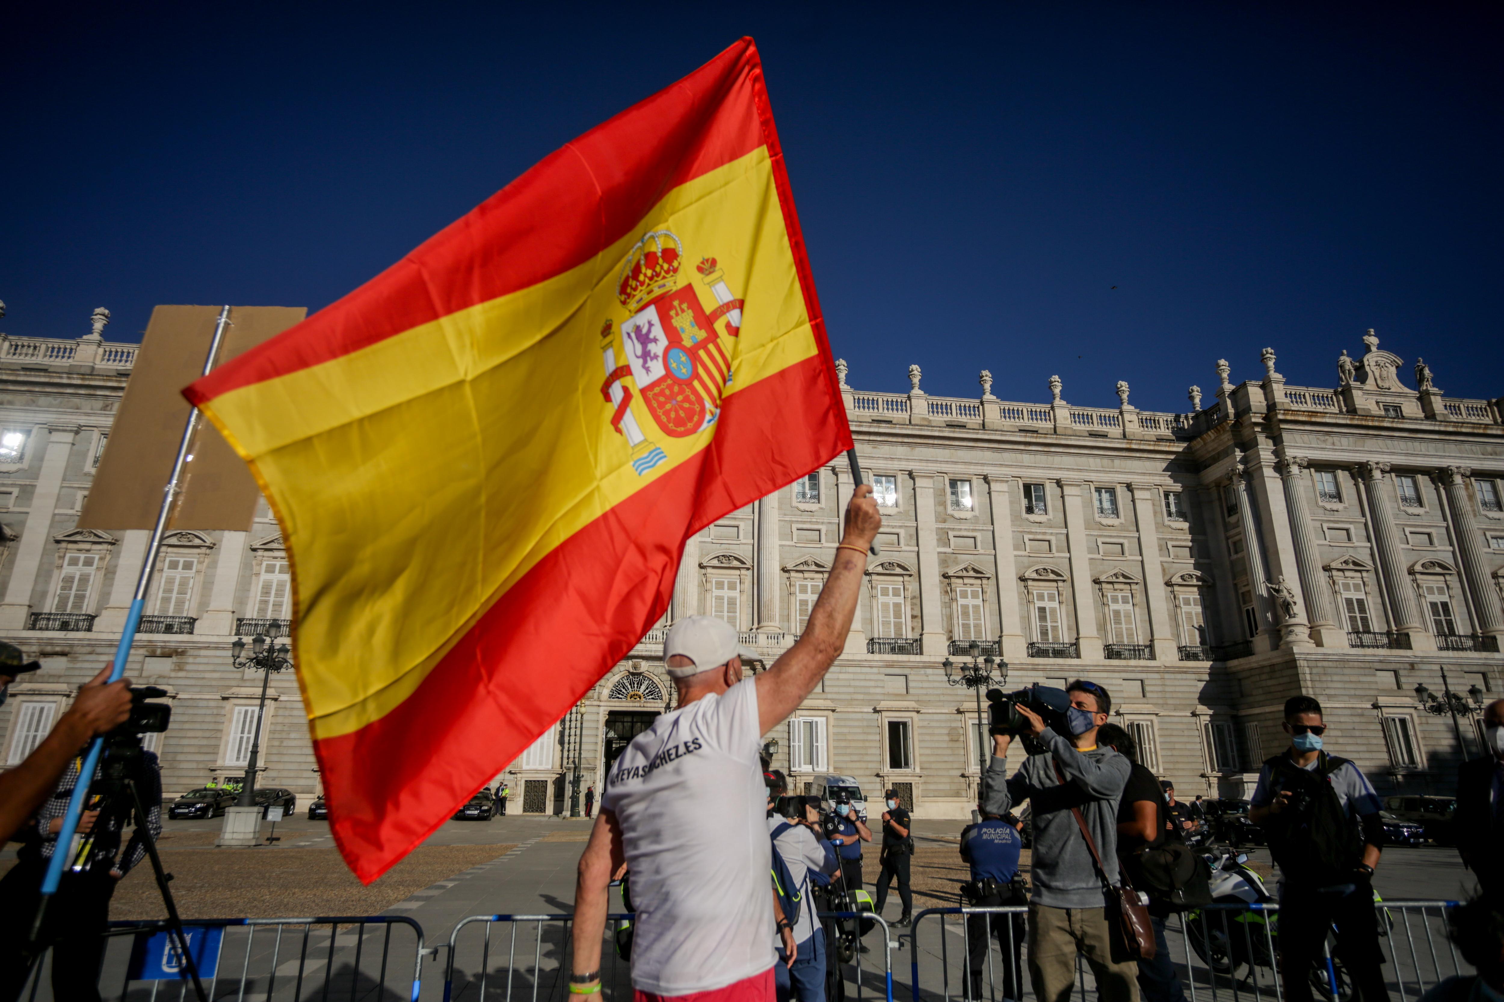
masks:
[[[860,1002],[874,990],[886,1002],[893,1000],[892,940],[887,922],[871,912],[818,912],[827,928],[827,963],[835,958],[835,943],[829,942],[832,922],[871,919],[883,934],[883,981],[869,984],[862,967],[862,952],[854,952],[850,964],[842,964],[845,982],[854,982],[854,999]],[[450,933],[448,957],[444,966],[444,1002],[567,1002],[569,943],[575,916],[559,915],[472,915],[460,919]],[[629,912],[606,916],[606,934],[600,952],[602,999],[632,997],[632,966],[617,952],[615,934],[632,922]],[[878,930],[872,930],[874,933]],[[520,934],[520,943],[519,943]],[[462,942],[462,939],[469,942]],[[529,957],[531,954],[531,957]],[[875,970],[872,970],[875,975]]]

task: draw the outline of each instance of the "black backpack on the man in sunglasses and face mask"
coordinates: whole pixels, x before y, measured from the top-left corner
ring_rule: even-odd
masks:
[[[1351,874],[1363,862],[1363,834],[1330,781],[1348,760],[1319,751],[1314,769],[1299,768],[1287,754],[1263,765],[1269,768],[1274,796],[1290,790],[1289,805],[1265,820],[1269,852],[1280,871],[1313,886]]]

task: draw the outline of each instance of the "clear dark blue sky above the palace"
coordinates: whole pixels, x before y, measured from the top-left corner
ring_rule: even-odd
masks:
[[[1499,5],[63,6],[0,54],[12,335],[317,309],[752,35],[854,386],[1185,410],[1376,327],[1504,394]]]

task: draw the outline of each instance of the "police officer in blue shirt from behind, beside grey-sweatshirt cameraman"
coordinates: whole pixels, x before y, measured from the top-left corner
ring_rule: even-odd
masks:
[[[982,805],[979,804],[978,808]],[[1018,877],[1018,850],[1023,838],[1018,829],[999,814],[982,814],[976,825],[961,829],[961,859],[972,867],[970,883],[961,885],[961,897],[972,907],[1029,904],[1023,880]],[[1023,915],[967,915],[967,964],[972,970],[972,999],[982,997],[982,967],[987,964],[988,936],[997,937],[1003,954],[1005,999],[1024,997],[1020,948],[1024,942]]]

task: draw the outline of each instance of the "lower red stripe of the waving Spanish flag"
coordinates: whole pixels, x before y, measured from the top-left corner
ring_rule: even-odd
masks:
[[[632,650],[668,608],[686,524],[692,535],[850,448],[829,368],[815,356],[728,397],[705,451],[538,562],[400,706],[314,742],[334,837],[361,880],[433,834]],[[791,412],[796,401],[806,407]]]

